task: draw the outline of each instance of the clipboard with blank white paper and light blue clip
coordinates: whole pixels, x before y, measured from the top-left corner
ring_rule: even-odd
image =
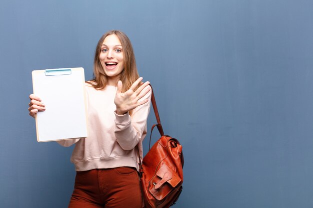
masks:
[[[83,68],[33,70],[33,94],[45,104],[36,113],[38,142],[87,137]]]

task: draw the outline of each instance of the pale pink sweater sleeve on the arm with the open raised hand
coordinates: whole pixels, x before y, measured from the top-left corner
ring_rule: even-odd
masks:
[[[150,86],[147,86],[150,88]],[[138,142],[142,142],[146,135],[146,121],[150,111],[151,90],[141,100],[148,98],[148,102],[133,109],[131,116],[126,113],[115,113],[115,137],[117,143],[124,150],[133,149]],[[140,100],[139,100],[140,101]]]

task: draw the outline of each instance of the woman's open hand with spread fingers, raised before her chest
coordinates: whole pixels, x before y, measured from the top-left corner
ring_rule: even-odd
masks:
[[[133,110],[139,105],[148,102],[148,99],[144,99],[138,102],[144,95],[146,95],[150,88],[143,89],[149,84],[149,82],[144,82],[141,84],[142,77],[139,77],[126,92],[121,92],[122,82],[119,80],[117,82],[117,91],[114,98],[114,103],[116,105],[116,113],[118,115],[123,115],[130,110]],[[135,90],[138,84],[141,84],[138,89]]]

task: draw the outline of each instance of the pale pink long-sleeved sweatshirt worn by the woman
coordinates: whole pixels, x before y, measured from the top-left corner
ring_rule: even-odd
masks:
[[[150,86],[147,86],[150,87]],[[144,105],[120,116],[114,111],[116,87],[106,86],[95,90],[85,84],[87,100],[88,137],[57,141],[64,147],[75,144],[70,161],[76,171],[101,168],[134,167],[138,170],[138,144],[142,158],[142,140],[146,135],[146,120],[150,110],[151,91],[143,98],[149,98]]]

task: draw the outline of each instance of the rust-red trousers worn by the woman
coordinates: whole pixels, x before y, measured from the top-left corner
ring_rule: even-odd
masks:
[[[68,208],[142,208],[138,172],[129,167],[76,172]]]

